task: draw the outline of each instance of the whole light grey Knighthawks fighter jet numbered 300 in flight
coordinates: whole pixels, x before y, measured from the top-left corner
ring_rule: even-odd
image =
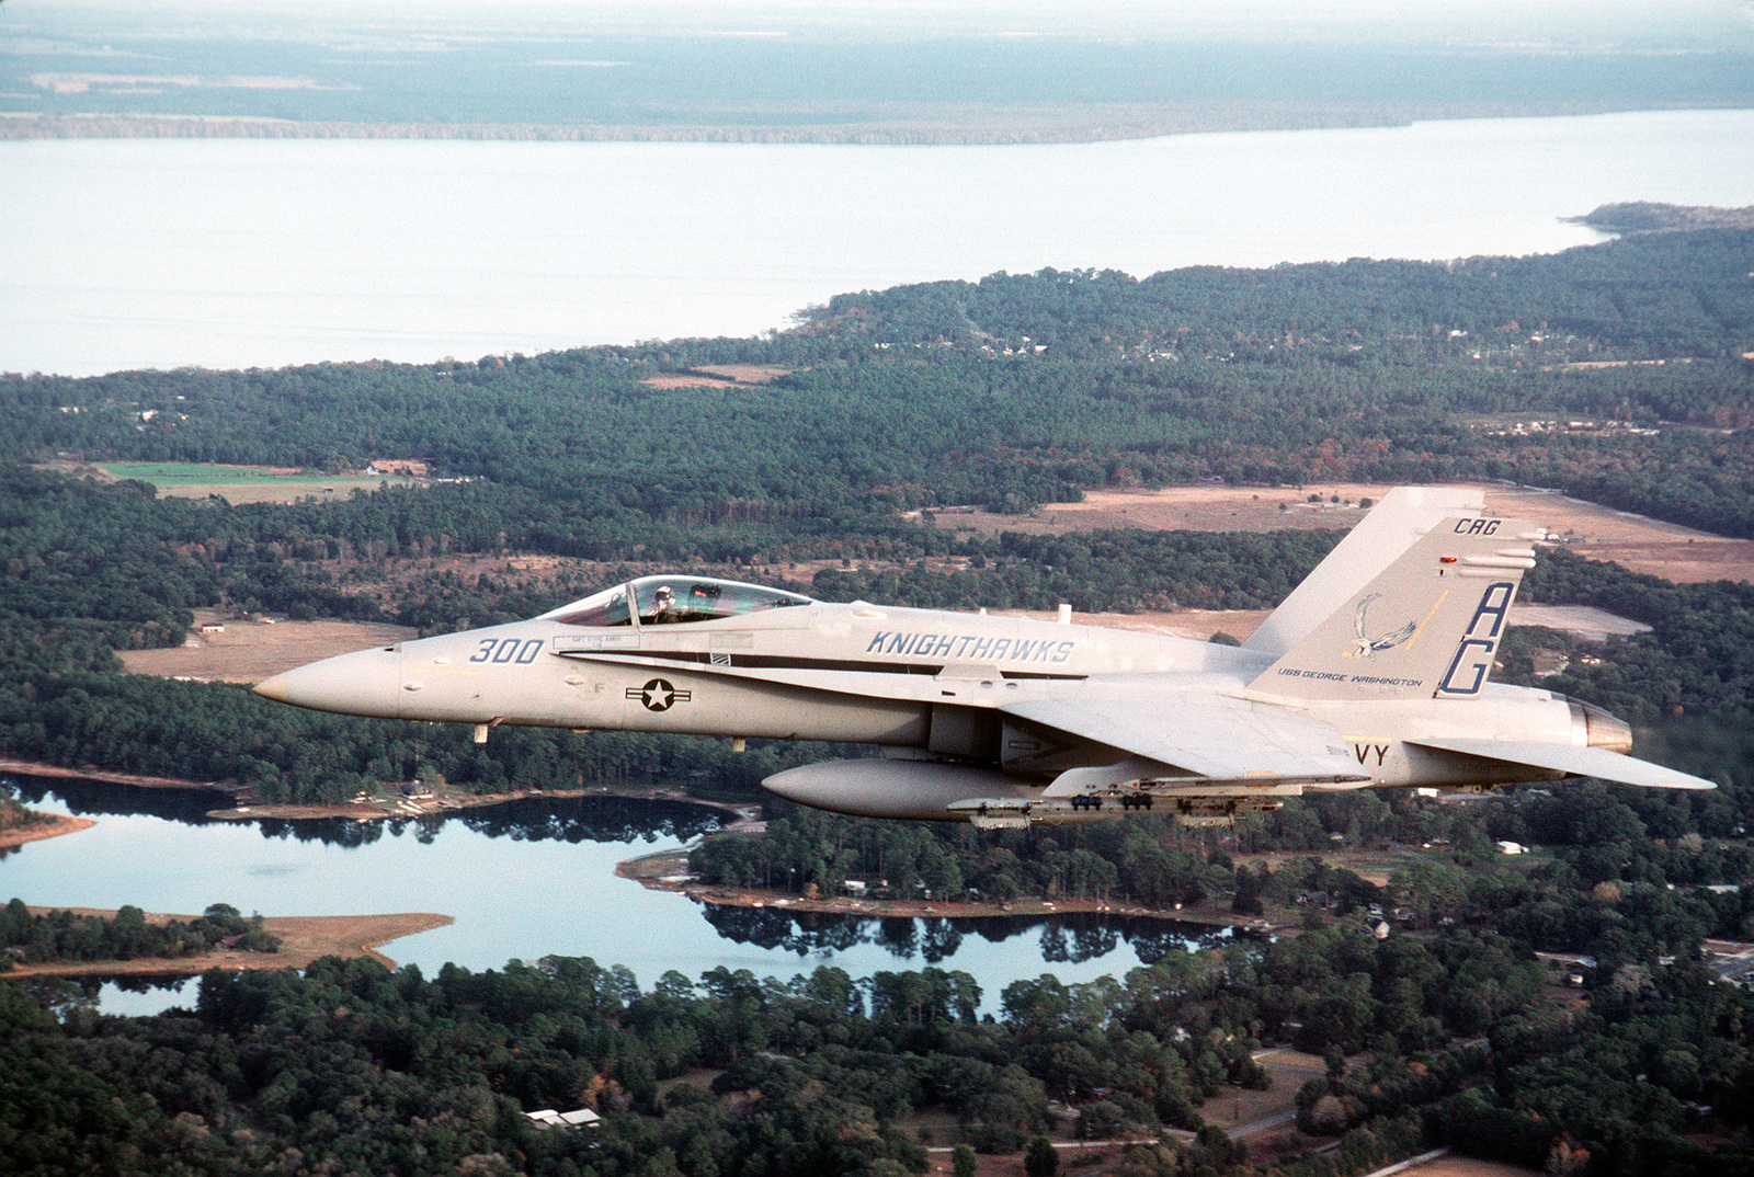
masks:
[[[1633,760],[1591,703],[1494,684],[1544,533],[1477,491],[1389,493],[1240,647],[649,575],[530,621],[398,642],[258,695],[351,716],[873,744],[763,784],[817,809],[980,828],[1128,812],[1228,824],[1310,791],[1598,777]]]

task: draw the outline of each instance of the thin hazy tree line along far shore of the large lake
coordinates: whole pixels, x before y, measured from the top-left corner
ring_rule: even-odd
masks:
[[[1493,118],[1575,118],[1656,111],[1743,111],[1717,102],[1214,102],[1168,105],[909,105],[858,123],[558,125],[351,123],[233,116],[28,114],[0,111],[0,140],[37,139],[451,139],[495,142],[998,146],[1080,144],[1223,132],[1363,130]],[[803,112],[810,114],[810,112]]]

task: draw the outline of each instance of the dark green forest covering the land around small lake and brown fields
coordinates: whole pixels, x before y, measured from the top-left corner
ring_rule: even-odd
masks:
[[[4,375],[0,756],[230,781],[268,800],[431,774],[474,793],[686,781],[754,798],[779,768],[856,751],[538,730],[475,745],[467,730],[128,675],[116,651],[174,646],[207,607],[437,633],[630,574],[747,577],[802,560],[817,570],[789,588],[828,600],[1265,609],[1337,540],[982,537],[909,514],[1024,514],[1089,488],[1198,479],[1508,479],[1750,537],[1750,272],[1754,233],[1677,232],[1544,258],[998,274],[845,295],[747,340]],[[642,382],[719,363],[786,374]],[[340,472],[377,458],[428,461],[442,481],[233,505],[91,470]],[[461,574],[423,567],[435,554],[553,560]],[[1570,654],[1542,686],[1608,707],[1642,754],[1721,788],[1328,796],[1230,833],[1154,817],[975,833],[770,802],[768,837],[709,840],[695,870],[819,893],[859,877],[898,896],[1254,914],[1321,893],[1330,907],[1294,937],[1165,952],[1091,986],[1017,981],[989,1014],[966,975],[938,968],[824,967],[791,982],[716,970],[640,988],[614,961],[431,979],[324,961],[214,974],[189,1009],[140,1019],[96,1012],[77,986],[0,981],[0,1156],[23,1172],[903,1173],[924,1165],[905,1126],[917,1114],[1016,1151],[1047,1131],[1054,1098],[1086,1133],[1196,1133],[1110,1172],[1226,1173],[1251,1166],[1247,1149],[1200,1109],[1226,1082],[1261,1082],[1254,1049],[1287,1044],[1330,1059],[1298,1093],[1301,1138],[1340,1147],[1266,1172],[1366,1172],[1437,1142],[1556,1173],[1745,1172],[1743,991],[1717,981],[1701,942],[1754,938],[1754,589],[1556,549],[1524,598],[1652,628],[1587,647],[1515,630],[1503,679],[1533,682],[1538,653]],[[1540,852],[1505,856],[1500,840]],[[1335,847],[1430,852],[1379,884],[1326,863]],[[146,944],[133,914],[105,928],[21,907],[0,912],[0,933],[23,951],[181,951]],[[1393,935],[1372,933],[1375,912]],[[796,935],[759,916],[740,933]],[[1568,989],[1537,951],[1593,963]],[[605,1116],[595,1135],[521,1116],[581,1103]]]

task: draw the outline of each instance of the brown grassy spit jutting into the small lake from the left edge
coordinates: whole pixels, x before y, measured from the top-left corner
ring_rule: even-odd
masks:
[[[32,907],[44,916],[49,907]],[[116,912],[91,907],[61,909],[75,916],[102,916]],[[172,919],[189,923],[195,916],[165,916],[147,912],[151,924]],[[433,912],[400,912],[393,916],[267,916],[261,926],[281,937],[279,952],[203,952],[175,959],[144,958],[130,961],[58,961],[54,965],[16,965],[9,977],[189,977],[209,968],[305,968],[321,956],[370,956],[388,968],[396,961],[377,951],[398,937],[454,923],[451,916]]]

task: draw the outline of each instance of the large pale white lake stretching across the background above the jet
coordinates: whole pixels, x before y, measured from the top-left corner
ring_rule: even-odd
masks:
[[[984,147],[0,142],[0,370],[431,361],[784,328],[996,270],[1463,258],[1754,202],[1754,111]]]

